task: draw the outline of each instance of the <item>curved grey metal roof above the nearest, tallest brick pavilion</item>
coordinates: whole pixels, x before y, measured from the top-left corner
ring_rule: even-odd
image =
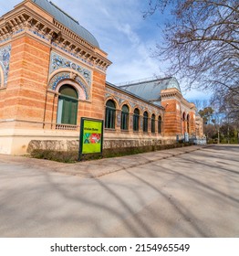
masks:
[[[36,5],[43,8],[47,13],[60,22],[62,25],[68,27],[70,30],[75,32],[79,37],[85,39],[89,44],[99,48],[99,42],[96,37],[94,37],[85,27],[78,24],[78,21],[73,17],[69,16],[63,10],[61,10],[57,5],[47,0],[32,0]]]

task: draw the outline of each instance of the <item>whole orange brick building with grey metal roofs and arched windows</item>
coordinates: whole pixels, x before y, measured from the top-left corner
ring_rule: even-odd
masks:
[[[195,106],[177,80],[106,82],[97,39],[47,0],[0,18],[0,154],[78,148],[81,117],[105,120],[104,147],[171,143],[196,135]]]

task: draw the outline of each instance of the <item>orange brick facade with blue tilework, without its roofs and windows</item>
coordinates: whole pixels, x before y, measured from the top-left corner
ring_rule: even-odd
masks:
[[[194,105],[185,101],[181,93],[162,91],[159,107],[106,86],[106,69],[111,64],[107,54],[70,28],[59,25],[32,1],[16,5],[1,17],[0,32],[1,56],[5,59],[5,66],[0,66],[0,153],[25,154],[32,140],[78,139],[81,117],[105,119],[110,93],[114,101],[120,102],[115,131],[105,131],[109,141],[138,140],[147,144],[168,137],[175,139],[176,134],[187,131],[195,133]],[[57,124],[61,84],[69,84],[78,91],[74,125]],[[119,93],[122,99],[117,96]],[[123,104],[129,106],[130,121],[129,131],[121,133],[119,116]],[[143,133],[141,126],[139,133],[133,133],[132,118],[137,107],[140,122],[143,112],[149,113],[148,133]],[[183,112],[189,117],[188,122],[182,120]],[[152,114],[156,117],[155,133],[151,133]]]

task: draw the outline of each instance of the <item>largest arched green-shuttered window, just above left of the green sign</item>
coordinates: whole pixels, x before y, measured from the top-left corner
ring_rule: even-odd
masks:
[[[57,123],[77,124],[78,119],[78,91],[68,84],[59,89],[57,106]]]

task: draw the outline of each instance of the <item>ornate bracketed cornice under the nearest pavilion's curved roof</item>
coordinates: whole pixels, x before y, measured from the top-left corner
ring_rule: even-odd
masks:
[[[31,3],[31,5],[33,4]],[[104,52],[57,22],[54,17],[48,16],[49,19],[38,15],[29,5],[26,6],[25,2],[22,5],[17,5],[16,9],[0,20],[0,43],[14,37],[17,31],[26,31],[36,37],[41,37],[48,44],[63,49],[97,69],[104,72],[108,69],[111,62],[105,57]]]

